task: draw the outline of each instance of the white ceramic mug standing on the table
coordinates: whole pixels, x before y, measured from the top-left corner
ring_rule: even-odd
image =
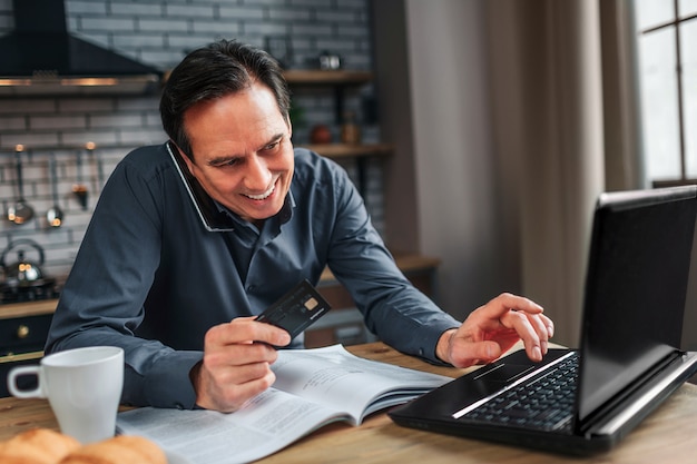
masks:
[[[17,377],[36,375],[35,389],[20,389]],[[114,436],[124,388],[124,349],[90,346],[45,356],[40,365],[14,367],[8,391],[18,398],[48,398],[60,431],[82,444]]]

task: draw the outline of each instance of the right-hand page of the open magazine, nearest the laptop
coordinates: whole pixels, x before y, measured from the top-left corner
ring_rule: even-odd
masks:
[[[451,377],[365,359],[341,345],[278,352],[274,388],[346,411],[354,425],[375,411],[406,403]]]

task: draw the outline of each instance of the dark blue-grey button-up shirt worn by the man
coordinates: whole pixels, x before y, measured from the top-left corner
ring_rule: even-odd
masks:
[[[206,330],[262,313],[303,278],[316,284],[325,266],[367,328],[404,353],[435,361],[439,336],[459,326],[402,275],[350,178],[326,158],[295,149],[285,206],[261,230],[227,215],[232,230],[204,228],[166,145],[130,152],[100,195],[47,353],[121,346],[124,403],[192,408],[188,373]]]

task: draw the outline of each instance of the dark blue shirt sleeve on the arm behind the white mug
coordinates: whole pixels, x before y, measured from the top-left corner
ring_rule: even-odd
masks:
[[[150,148],[153,149],[153,148]],[[175,351],[135,335],[160,263],[164,194],[121,161],[100,194],[61,292],[46,353],[111,345],[125,351],[122,403],[193,408],[190,368],[200,352]]]

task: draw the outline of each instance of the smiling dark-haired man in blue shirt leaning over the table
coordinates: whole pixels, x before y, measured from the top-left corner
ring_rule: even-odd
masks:
[[[255,315],[328,265],[366,326],[404,353],[464,367],[522,338],[542,358],[553,324],[537,304],[503,294],[461,325],[416,290],[346,174],[294,150],[288,108],[282,70],[261,50],[222,40],[183,60],[160,102],[170,140],[136,149],[109,178],[48,353],[121,346],[125,403],[232,412],[273,384],[272,345],[303,344]],[[202,223],[204,204],[223,227]]]

